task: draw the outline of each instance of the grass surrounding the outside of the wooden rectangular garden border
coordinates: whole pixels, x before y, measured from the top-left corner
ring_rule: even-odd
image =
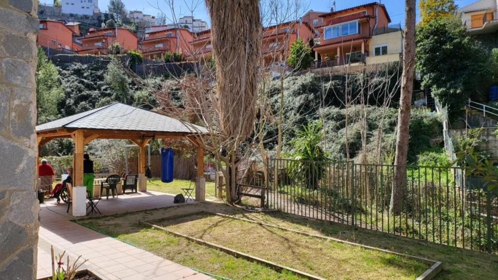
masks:
[[[140,224],[144,219],[158,219],[198,211],[219,212],[253,221],[278,225],[302,232],[331,236],[398,253],[441,261],[443,270],[436,280],[495,280],[498,275],[498,256],[486,253],[411,240],[390,234],[354,229],[344,224],[322,222],[281,212],[248,213],[223,203],[204,202],[156,210],[137,211],[121,215],[83,219],[92,226],[119,240],[170,259],[184,266],[222,275],[231,279],[299,279],[290,273],[279,274],[244,260],[236,259],[214,249],[209,249],[183,238],[151,229]],[[241,239],[245,242],[247,238]],[[358,279],[353,276],[351,279]]]

